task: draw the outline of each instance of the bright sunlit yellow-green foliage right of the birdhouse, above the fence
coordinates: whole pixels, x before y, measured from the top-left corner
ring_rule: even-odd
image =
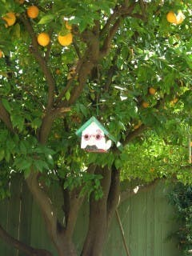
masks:
[[[176,176],[181,182],[191,182],[187,143],[187,137],[174,142],[168,134],[165,139],[150,131],[127,146],[115,164],[122,169],[122,180],[140,178],[150,182]]]

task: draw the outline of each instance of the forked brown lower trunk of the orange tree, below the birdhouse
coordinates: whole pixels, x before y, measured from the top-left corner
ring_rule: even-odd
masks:
[[[102,256],[108,220],[113,215],[118,204],[118,171],[108,167],[97,167],[94,173],[101,174],[103,177],[101,180],[103,195],[98,201],[95,200],[94,194],[90,195],[89,226],[82,249],[82,256]],[[78,194],[74,194],[74,197],[70,198],[70,208],[68,209],[68,214],[66,214],[68,216],[66,226],[62,226],[62,223],[58,222],[50,199],[38,185],[37,175],[37,173],[32,172],[27,178],[27,184],[39,206],[41,206],[47,230],[58,251],[58,256],[78,256],[73,242],[73,234],[82,199],[78,198]]]

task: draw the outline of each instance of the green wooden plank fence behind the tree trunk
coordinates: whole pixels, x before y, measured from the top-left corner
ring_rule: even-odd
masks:
[[[54,197],[61,200],[58,193]],[[37,248],[46,248],[56,256],[54,246],[46,233],[38,206],[31,197],[25,182],[18,178],[10,186],[12,197],[0,202],[0,223],[14,238]],[[167,188],[162,182],[135,194],[119,206],[118,213],[124,229],[130,256],[181,256],[176,241],[169,235],[177,229],[174,209],[167,202]],[[74,242],[80,253],[86,236],[87,206],[79,214]],[[104,256],[126,256],[118,219],[114,219],[106,240]],[[0,240],[0,256],[26,256]]]

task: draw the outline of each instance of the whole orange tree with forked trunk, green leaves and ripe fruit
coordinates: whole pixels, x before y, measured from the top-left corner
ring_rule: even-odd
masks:
[[[73,234],[86,196],[81,255],[98,256],[122,179],[191,181],[191,7],[171,0],[0,1],[0,193],[6,196],[11,174],[25,177],[59,256],[78,255]],[[94,115],[122,150],[80,149],[75,131]],[[65,222],[44,190],[52,182],[63,191]]]

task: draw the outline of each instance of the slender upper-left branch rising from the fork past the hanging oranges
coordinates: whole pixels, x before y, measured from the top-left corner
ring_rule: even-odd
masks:
[[[54,106],[54,88],[55,88],[54,78],[53,78],[53,75],[51,74],[49,67],[47,66],[46,59],[42,57],[42,54],[38,50],[39,46],[38,46],[37,37],[36,37],[36,34],[34,33],[33,27],[31,26],[30,20],[26,18],[24,14],[22,14],[20,18],[24,26],[26,26],[26,30],[30,34],[30,38],[32,40],[34,57],[38,61],[38,64],[41,67],[42,72],[45,75],[46,82],[49,86],[46,109],[50,110]]]

